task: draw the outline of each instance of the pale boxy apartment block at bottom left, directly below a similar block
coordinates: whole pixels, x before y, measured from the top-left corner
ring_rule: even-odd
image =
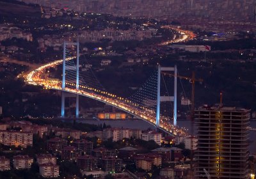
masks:
[[[53,163],[46,163],[39,165],[39,173],[45,178],[56,178],[60,174],[60,168]]]

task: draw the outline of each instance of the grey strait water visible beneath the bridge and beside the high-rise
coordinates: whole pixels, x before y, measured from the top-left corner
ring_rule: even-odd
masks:
[[[156,127],[144,120],[81,120],[83,123],[87,124],[106,124],[111,125],[111,127],[124,127],[131,129],[141,129],[146,130],[148,128],[156,129]],[[178,120],[177,125],[179,127],[185,127],[188,129],[190,133],[191,123],[189,120]],[[256,128],[256,121],[250,122],[250,127]],[[196,128],[194,128],[196,129]],[[195,130],[196,131],[196,130]],[[256,154],[256,131],[250,131],[250,146],[249,146],[250,154]]]

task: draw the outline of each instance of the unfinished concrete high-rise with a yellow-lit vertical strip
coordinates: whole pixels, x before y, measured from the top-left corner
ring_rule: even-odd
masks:
[[[248,126],[250,110],[202,106],[195,110],[198,125],[196,177],[249,178]]]

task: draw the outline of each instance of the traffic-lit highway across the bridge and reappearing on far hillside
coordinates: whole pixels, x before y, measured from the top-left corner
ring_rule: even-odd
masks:
[[[173,27],[165,26],[163,28],[170,28],[173,30]],[[188,39],[193,39],[195,36],[193,33],[189,31],[180,31],[180,34],[182,36],[180,39],[173,38],[172,41],[166,41],[165,43],[161,43],[159,45],[167,45],[169,43],[175,43],[179,41],[185,41]],[[69,61],[73,59],[74,57],[66,59],[66,61]],[[60,80],[54,80],[54,79],[45,79],[45,71],[49,68],[56,68],[56,66],[60,65],[63,62],[63,60],[58,60],[54,62],[49,62],[48,64],[44,64],[43,66],[40,66],[39,68],[29,72],[27,75],[24,75],[25,81],[31,85],[40,85],[45,87],[46,89],[56,89],[56,90],[62,90],[65,92],[71,92],[73,94],[79,94],[81,96],[90,97],[92,99],[95,99],[97,101],[101,101],[106,104],[110,104],[111,106],[114,106],[116,108],[119,108],[120,110],[123,110],[127,113],[130,113],[131,115],[134,115],[135,117],[138,117],[142,120],[145,120],[146,122],[149,122],[152,125],[156,125],[156,112],[152,111],[150,109],[147,109],[145,107],[138,106],[138,104],[132,103],[132,101],[129,101],[128,99],[125,99],[123,97],[118,97],[115,94],[109,94],[108,92],[104,92],[99,89],[93,89],[92,87],[87,87],[83,85],[79,85],[79,90],[76,89],[75,83],[66,83],[65,89],[61,89],[61,81]],[[74,89],[72,88],[74,86]],[[160,129],[162,129],[165,132],[168,132],[169,134],[176,136],[184,136],[188,135],[186,131],[183,129],[180,129],[179,127],[174,127],[172,124],[170,124],[168,118],[161,117],[160,119]]]

